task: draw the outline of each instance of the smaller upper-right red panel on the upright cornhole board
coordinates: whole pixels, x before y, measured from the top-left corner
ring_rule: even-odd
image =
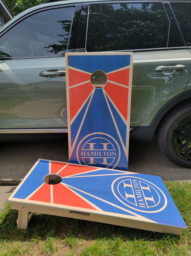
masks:
[[[106,75],[110,81],[129,86],[129,68]]]

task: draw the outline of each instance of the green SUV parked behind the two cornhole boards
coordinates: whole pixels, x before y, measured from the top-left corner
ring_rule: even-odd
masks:
[[[0,30],[0,140],[67,132],[66,52],[133,51],[130,139],[157,134],[191,167],[190,13],[190,1],[51,0],[13,18]]]

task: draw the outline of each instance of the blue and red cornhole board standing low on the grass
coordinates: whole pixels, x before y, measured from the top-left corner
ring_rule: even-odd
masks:
[[[163,181],[152,175],[38,160],[9,201],[19,229],[27,229],[29,212],[177,235],[186,229]]]

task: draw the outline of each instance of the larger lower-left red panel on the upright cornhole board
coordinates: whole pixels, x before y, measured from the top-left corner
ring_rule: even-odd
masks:
[[[90,82],[70,88],[70,121],[75,116],[93,89],[94,87]]]

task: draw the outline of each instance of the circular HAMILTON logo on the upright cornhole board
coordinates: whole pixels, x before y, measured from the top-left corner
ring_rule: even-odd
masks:
[[[76,153],[78,163],[103,168],[114,168],[121,154],[117,141],[105,133],[85,136],[78,144]]]

